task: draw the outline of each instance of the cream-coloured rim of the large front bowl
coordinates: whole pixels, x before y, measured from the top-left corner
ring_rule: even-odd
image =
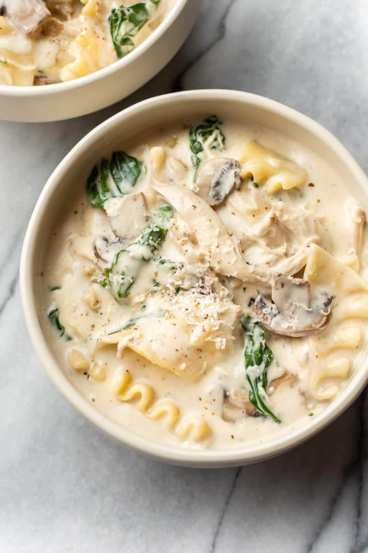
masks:
[[[217,100],[222,102],[240,101],[246,103],[248,106],[257,107],[263,109],[265,112],[286,118],[289,122],[302,128],[303,131],[310,132],[322,140],[324,144],[342,159],[344,165],[349,167],[350,172],[354,175],[354,179],[359,181],[360,185],[365,187],[368,191],[367,175],[343,144],[340,143],[332,133],[327,131],[326,128],[322,127],[321,124],[279,102],[249,92],[222,89],[173,92],[148,98],[147,100],[143,100],[122,110],[92,129],[92,131],[79,140],[72,150],[70,150],[47,180],[36,202],[24,238],[20,259],[20,293],[31,342],[33,343],[35,352],[45,372],[49,375],[49,378],[62,395],[82,413],[87,420],[92,422],[92,424],[97,426],[100,430],[103,430],[109,436],[120,441],[122,444],[133,447],[144,455],[162,461],[196,467],[238,466],[280,455],[280,453],[301,444],[312,435],[321,431],[325,426],[337,418],[337,416],[342,414],[343,411],[353,403],[355,398],[358,397],[368,380],[368,362],[364,369],[361,369],[353,375],[350,382],[341,390],[339,395],[334,398],[321,413],[318,413],[311,419],[310,424],[298,426],[296,429],[293,428],[288,434],[276,437],[276,439],[266,440],[265,442],[258,442],[257,444],[247,445],[245,443],[237,447],[234,446],[223,450],[190,449],[171,446],[151,441],[146,437],[134,434],[131,430],[111,421],[73,387],[72,383],[63,373],[61,364],[58,364],[51,353],[51,349],[47,345],[38,319],[36,297],[33,292],[35,246],[38,239],[40,223],[44,213],[47,211],[58,182],[62,180],[63,175],[68,173],[73,164],[73,160],[86,152],[90,144],[98,142],[98,140],[105,137],[110,128],[122,124],[126,117],[137,116],[138,114],[144,113],[147,109],[167,106],[168,103],[172,103],[173,105],[175,103],[181,103],[184,105],[185,102],[195,103],[196,101],[203,100]]]

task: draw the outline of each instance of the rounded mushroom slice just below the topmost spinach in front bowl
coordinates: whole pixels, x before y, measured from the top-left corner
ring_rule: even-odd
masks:
[[[210,206],[217,206],[234,188],[239,189],[240,169],[236,159],[209,159],[198,170],[194,192]]]

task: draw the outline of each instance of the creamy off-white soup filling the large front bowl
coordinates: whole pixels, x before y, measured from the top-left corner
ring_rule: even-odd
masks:
[[[142,163],[125,189],[134,195],[129,204],[124,196],[93,207],[85,183],[76,183],[47,248],[43,324],[68,379],[111,420],[164,444],[222,449],[309,424],[359,371],[368,317],[366,197],[351,196],[306,148],[250,124],[212,119],[203,151],[193,153],[189,126],[199,123],[153,129],[115,150]],[[219,201],[210,207],[205,184],[216,176],[225,192],[235,185],[220,200],[222,188],[209,189]],[[109,195],[119,192],[111,175],[107,182]],[[173,209],[162,211],[167,205]],[[147,247],[137,237],[158,212],[164,219],[152,228],[166,234]],[[290,278],[269,324],[255,305],[259,293],[267,301],[279,273]],[[302,284],[292,275],[309,283],[310,305],[295,299]],[[302,335],[280,334],[283,324]],[[249,353],[259,329],[261,361],[246,367],[244,348]],[[264,373],[268,385],[257,387]],[[251,401],[252,383],[268,414]]]

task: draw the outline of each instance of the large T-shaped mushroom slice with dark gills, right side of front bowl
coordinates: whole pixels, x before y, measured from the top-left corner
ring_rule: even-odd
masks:
[[[254,308],[268,330],[298,338],[321,332],[327,326],[332,300],[333,296],[326,294],[319,304],[311,307],[311,286],[307,280],[277,274],[271,296],[259,294]]]

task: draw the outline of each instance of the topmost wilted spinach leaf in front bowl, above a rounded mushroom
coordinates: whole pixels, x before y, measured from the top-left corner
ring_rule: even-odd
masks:
[[[194,178],[196,177],[198,168],[201,164],[203,155],[202,152],[204,151],[204,144],[207,142],[207,140],[212,137],[212,135],[216,132],[216,136],[210,146],[211,150],[223,150],[225,147],[225,135],[221,131],[221,128],[219,125],[221,125],[222,122],[220,119],[218,119],[217,115],[211,115],[210,117],[207,117],[207,119],[204,120],[201,124],[197,126],[192,126],[189,129],[189,148],[193,155],[191,155],[191,163],[194,166],[195,174]]]

